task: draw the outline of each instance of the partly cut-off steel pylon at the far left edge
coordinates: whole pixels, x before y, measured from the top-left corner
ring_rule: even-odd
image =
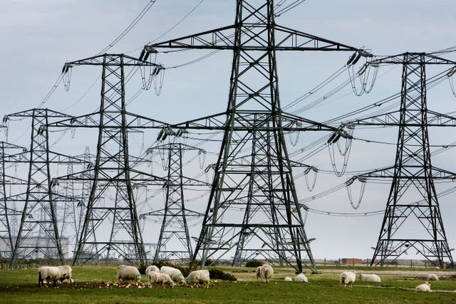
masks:
[[[16,217],[19,216],[19,211],[16,210],[16,204],[8,201],[11,187],[27,184],[26,180],[8,174],[6,169],[11,165],[11,160],[24,157],[24,152],[26,152],[24,147],[0,142],[0,241],[5,243],[4,250],[0,251],[0,258],[11,258],[18,228]]]

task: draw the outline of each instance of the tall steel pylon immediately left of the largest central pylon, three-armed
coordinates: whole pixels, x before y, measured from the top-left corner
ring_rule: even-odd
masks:
[[[61,120],[48,127],[94,127],[98,129],[98,144],[93,167],[61,179],[92,182],[90,198],[73,264],[103,258],[123,258],[130,263],[145,263],[145,249],[133,197],[133,184],[163,184],[164,179],[140,172],[130,166],[128,131],[152,127],[163,122],[134,115],[125,108],[125,67],[151,69],[152,77],[160,73],[155,63],[140,61],[124,54],[103,54],[68,62],[63,68],[68,73],[78,65],[99,65],[101,101],[98,112],[70,120]]]

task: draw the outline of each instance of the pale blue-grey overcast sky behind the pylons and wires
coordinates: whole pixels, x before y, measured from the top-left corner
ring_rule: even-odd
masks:
[[[40,105],[60,75],[63,63],[93,56],[108,46],[138,16],[147,2],[149,1],[0,1],[0,56],[3,58],[0,65],[0,115]],[[159,40],[163,41],[233,23],[234,0],[205,0],[197,6],[199,2],[157,0],[137,26],[110,48],[108,53],[139,56],[143,45],[155,41],[160,36]],[[195,6],[195,11],[182,20]],[[377,55],[393,55],[406,51],[430,52],[456,46],[455,16],[456,2],[452,0],[308,0],[293,11],[280,16],[276,22],[350,46],[369,48]],[[171,28],[173,29],[170,30]],[[163,33],[165,35],[162,36]],[[180,122],[223,111],[227,107],[231,52],[219,52],[204,61],[182,68],[172,68],[207,53],[209,51],[159,54],[157,63],[162,63],[167,68],[161,95],[156,96],[153,90],[142,93],[131,103],[130,110],[167,122]],[[278,54],[282,105],[291,103],[314,88],[341,68],[350,55],[317,52]],[[446,54],[445,58],[456,60],[454,53]],[[382,67],[370,94],[358,98],[348,87],[320,107],[299,115],[314,120],[328,120],[398,93],[400,71],[400,66]],[[428,75],[437,71],[438,69],[430,69]],[[70,91],[64,92],[63,85],[60,84],[43,108],[68,112],[71,115],[95,111],[99,104],[100,85],[99,81],[96,81],[100,78],[100,72],[97,68],[74,68]],[[347,78],[348,74],[344,73],[332,87],[328,87],[328,90]],[[139,82],[132,83],[132,88],[128,88],[130,96],[138,90],[138,85]],[[324,92],[318,97],[322,95]],[[301,108],[318,97],[306,100],[292,110]],[[456,98],[452,95],[447,81],[430,90],[427,100],[429,108],[433,110],[450,112],[456,108]],[[26,126],[21,125],[21,122],[17,122],[16,125],[10,122],[8,140],[16,145],[28,146],[29,135],[24,131]],[[355,136],[375,137],[376,140],[394,144],[397,130],[357,132],[356,130]],[[432,131],[430,135],[434,145],[456,141],[456,132],[451,129],[445,129],[445,134],[441,130]],[[1,136],[5,140],[4,135]],[[54,139],[58,138],[58,135],[53,136]],[[299,145],[291,146],[289,150],[299,150],[300,146],[304,147],[318,136],[301,134]],[[71,139],[69,134],[66,137],[63,139],[66,145],[55,145],[56,150],[68,154],[81,154],[84,147],[90,145],[91,150],[95,151],[96,135],[93,140],[88,140],[88,137],[83,135],[76,135],[74,139]],[[134,144],[135,153],[140,154],[142,146],[152,145],[154,140],[155,135],[138,137]],[[68,147],[71,147],[71,153],[68,152]],[[218,152],[215,144],[205,149]],[[353,142],[348,171],[392,165],[394,155],[394,145],[379,147],[367,145],[365,142]],[[434,164],[456,171],[452,159],[454,151],[445,152],[439,154]],[[331,170],[327,150],[306,162],[321,169]],[[197,174],[196,171],[188,175]],[[320,174],[313,193],[341,184],[349,177],[350,175],[336,178],[329,174],[323,177]],[[296,184],[300,199],[312,195],[305,187],[304,178],[296,179]],[[311,202],[309,206],[319,210],[346,213],[381,210],[385,208],[388,189],[388,185],[368,184],[363,203],[357,211],[351,208],[345,189],[333,196]],[[456,246],[456,221],[453,220],[456,216],[455,197],[450,195],[440,200],[450,248]],[[195,206],[195,209],[198,208],[204,210],[204,201]],[[382,218],[383,215],[334,217],[309,213],[306,218],[306,232],[309,238],[316,238],[311,244],[314,257],[370,258],[373,253],[370,247],[375,246]],[[197,236],[198,229],[197,226],[192,227],[192,235]],[[154,240],[152,238],[146,241]]]

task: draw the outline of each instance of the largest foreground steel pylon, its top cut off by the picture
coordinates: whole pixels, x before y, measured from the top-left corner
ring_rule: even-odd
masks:
[[[226,112],[192,120],[187,129],[224,130],[211,194],[192,259],[250,258],[302,264],[316,272],[298,202],[284,131],[334,128],[281,110],[276,51],[366,51],[279,26],[274,1],[236,1],[233,25],[153,43],[157,48],[233,51]],[[224,257],[225,256],[225,257]],[[309,260],[309,265],[307,261]]]

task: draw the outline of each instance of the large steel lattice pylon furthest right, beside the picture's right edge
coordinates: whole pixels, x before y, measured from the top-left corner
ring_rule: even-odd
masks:
[[[383,266],[387,258],[395,261],[416,250],[435,266],[444,267],[444,259],[453,266],[434,180],[455,179],[456,174],[432,166],[428,127],[456,127],[456,117],[427,108],[425,68],[456,62],[427,53],[403,53],[375,59],[371,64],[403,65],[400,109],[349,122],[399,127],[395,164],[358,176],[392,179],[371,265]]]

